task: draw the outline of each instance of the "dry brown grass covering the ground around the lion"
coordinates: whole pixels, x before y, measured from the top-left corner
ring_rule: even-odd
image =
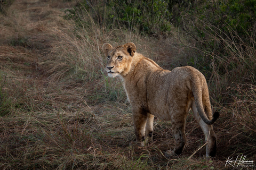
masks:
[[[103,71],[102,44],[133,41],[166,69],[186,64],[188,55],[175,36],[107,31],[90,18],[91,28],[74,31],[73,22],[61,17],[61,8],[74,4],[15,1],[0,14],[1,169],[229,169],[226,159],[239,153],[255,162],[254,86],[239,86],[240,97],[233,96],[230,106],[212,99],[222,111],[214,124],[217,158],[204,160],[205,148],[196,151],[204,137],[192,115],[182,155],[164,156],[174,139],[170,122],[158,118],[154,142],[130,146],[135,140],[131,108],[121,81]]]

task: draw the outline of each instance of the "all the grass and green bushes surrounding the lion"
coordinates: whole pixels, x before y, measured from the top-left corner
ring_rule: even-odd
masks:
[[[0,14],[0,169],[230,169],[242,155],[255,168],[255,2],[125,2],[23,0]],[[216,158],[191,114],[182,155],[164,156],[174,139],[157,117],[154,142],[130,146],[131,108],[101,49],[129,41],[165,69],[204,73]]]

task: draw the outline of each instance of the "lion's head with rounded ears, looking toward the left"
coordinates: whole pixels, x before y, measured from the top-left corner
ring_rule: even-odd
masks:
[[[133,55],[136,47],[133,43],[126,43],[123,46],[112,47],[110,44],[103,44],[103,52],[108,62],[106,71],[109,77],[117,75],[125,76],[131,69]]]

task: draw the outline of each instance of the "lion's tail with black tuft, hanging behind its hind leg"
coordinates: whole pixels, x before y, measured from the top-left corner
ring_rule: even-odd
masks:
[[[195,80],[195,79],[194,79]],[[196,83],[195,81],[193,82],[192,81],[192,91],[193,91],[193,96],[195,98],[195,104],[196,104],[196,108],[197,108],[197,111],[200,115],[200,117],[202,118],[202,120],[208,124],[208,125],[211,125],[213,124],[220,116],[219,112],[215,112],[213,114],[213,118],[212,120],[209,120],[209,116],[207,115],[210,115],[212,114],[212,109],[211,109],[211,104],[210,104],[210,98],[209,98],[209,91],[208,91],[208,88],[207,88],[207,84],[206,84],[206,81],[203,80],[203,86],[202,88],[199,88],[198,87],[196,88]],[[204,106],[203,106],[203,102],[204,102]],[[205,109],[204,109],[205,108]],[[206,113],[207,115],[206,115]]]

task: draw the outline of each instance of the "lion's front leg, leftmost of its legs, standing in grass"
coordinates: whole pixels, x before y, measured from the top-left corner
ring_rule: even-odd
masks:
[[[145,140],[145,129],[147,123],[147,112],[140,109],[133,109],[133,124],[136,135],[136,143],[138,146],[144,146],[143,141]]]

